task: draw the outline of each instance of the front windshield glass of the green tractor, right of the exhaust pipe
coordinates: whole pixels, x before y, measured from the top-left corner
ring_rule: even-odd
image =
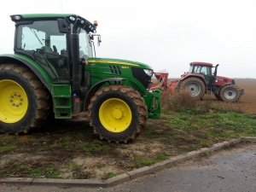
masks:
[[[84,31],[84,29],[80,29],[79,32],[79,57],[88,59],[92,57],[92,51],[90,46],[89,34]]]

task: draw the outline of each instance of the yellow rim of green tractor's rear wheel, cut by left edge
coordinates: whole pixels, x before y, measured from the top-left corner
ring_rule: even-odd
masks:
[[[28,100],[25,90],[13,80],[0,80],[0,121],[16,123],[27,111]]]

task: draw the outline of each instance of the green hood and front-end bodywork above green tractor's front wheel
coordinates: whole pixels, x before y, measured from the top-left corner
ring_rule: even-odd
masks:
[[[119,67],[120,73],[111,73],[109,67]],[[123,78],[121,84],[132,87],[134,90],[139,91],[143,96],[144,101],[148,108],[149,119],[160,119],[160,90],[148,91],[143,84],[137,79],[133,78],[131,67],[139,67],[143,69],[151,69],[146,64],[136,61],[125,61],[107,58],[90,58],[89,65],[85,71],[90,73],[91,85],[93,86],[102,79],[113,77]]]

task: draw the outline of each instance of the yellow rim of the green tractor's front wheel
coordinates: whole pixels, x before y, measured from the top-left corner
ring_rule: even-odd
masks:
[[[102,125],[111,132],[125,131],[131,125],[131,109],[118,98],[111,98],[102,103],[99,111]]]

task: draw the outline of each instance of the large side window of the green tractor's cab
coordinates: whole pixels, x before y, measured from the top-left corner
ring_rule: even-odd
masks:
[[[57,20],[38,20],[17,27],[15,49],[32,55],[53,81],[69,80],[67,35],[59,31]]]

